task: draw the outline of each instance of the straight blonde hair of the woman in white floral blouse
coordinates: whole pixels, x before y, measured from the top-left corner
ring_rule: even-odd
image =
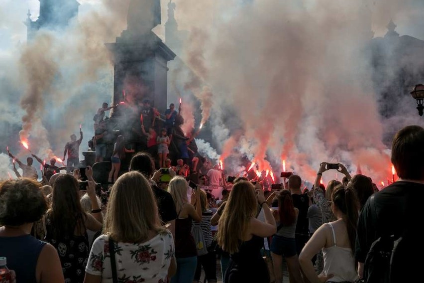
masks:
[[[152,188],[141,173],[125,173],[111,189],[104,233],[118,242],[140,243],[148,239],[150,230],[165,231]]]

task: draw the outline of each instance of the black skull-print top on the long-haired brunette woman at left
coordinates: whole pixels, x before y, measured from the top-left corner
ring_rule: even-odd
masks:
[[[87,229],[84,236],[70,235],[54,239],[49,215],[46,216],[46,229],[46,241],[53,245],[59,254],[65,282],[83,283],[90,252]]]

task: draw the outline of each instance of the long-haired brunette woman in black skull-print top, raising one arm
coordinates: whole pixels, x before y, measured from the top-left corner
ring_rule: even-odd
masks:
[[[89,179],[87,194],[92,201],[92,214],[81,208],[80,185],[74,176],[62,174],[53,184],[52,206],[46,215],[46,240],[59,253],[65,281],[84,281],[85,267],[89,256],[87,229],[102,229],[102,210],[97,202],[93,170],[86,170]]]

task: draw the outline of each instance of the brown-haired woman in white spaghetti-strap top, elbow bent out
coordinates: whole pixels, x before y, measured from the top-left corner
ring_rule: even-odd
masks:
[[[352,189],[334,188],[331,209],[336,221],[323,224],[308,241],[299,256],[302,270],[311,282],[355,282],[356,225],[359,203]],[[312,258],[322,249],[323,272],[317,276]]]

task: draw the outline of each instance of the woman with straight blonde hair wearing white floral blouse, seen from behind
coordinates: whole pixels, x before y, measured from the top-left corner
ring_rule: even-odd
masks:
[[[104,233],[93,243],[85,283],[111,282],[109,245],[114,247],[119,282],[167,282],[175,272],[172,234],[161,226],[152,189],[141,173],[128,172],[116,180]]]

